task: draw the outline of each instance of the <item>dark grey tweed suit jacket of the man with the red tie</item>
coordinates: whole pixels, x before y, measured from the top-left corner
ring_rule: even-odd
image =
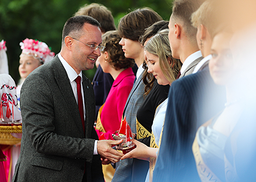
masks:
[[[55,57],[36,68],[21,89],[21,154],[13,181],[104,181],[93,127],[95,101],[92,84],[83,75],[86,133],[68,74]],[[86,165],[85,165],[86,164]]]

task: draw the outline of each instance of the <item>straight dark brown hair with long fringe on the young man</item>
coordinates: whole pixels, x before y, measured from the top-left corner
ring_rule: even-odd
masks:
[[[146,28],[161,20],[162,17],[153,9],[137,9],[120,19],[118,32],[120,37],[138,41]]]

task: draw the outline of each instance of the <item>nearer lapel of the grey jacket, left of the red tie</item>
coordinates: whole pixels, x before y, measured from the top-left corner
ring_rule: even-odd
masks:
[[[68,74],[66,73],[65,68],[63,67],[62,63],[60,62],[57,56],[54,58],[53,61],[55,79],[59,86],[59,90],[63,95],[65,104],[69,107],[70,113],[72,115],[72,118],[74,119],[74,122],[77,125],[78,130],[80,131],[81,135],[84,136],[80,113],[78,110],[74,93],[72,91],[72,87],[70,85]]]

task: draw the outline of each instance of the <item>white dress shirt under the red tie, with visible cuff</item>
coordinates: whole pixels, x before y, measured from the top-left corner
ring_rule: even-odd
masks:
[[[60,60],[60,62],[62,62],[62,65],[63,67],[65,68],[66,70],[66,73],[68,74],[68,77],[69,77],[69,81],[70,81],[70,84],[71,84],[71,87],[72,87],[72,90],[73,90],[73,93],[74,93],[74,96],[76,98],[76,103],[78,104],[78,98],[77,98],[77,84],[76,84],[76,81],[75,79],[80,76],[81,77],[81,92],[82,92],[82,98],[83,98],[83,103],[84,103],[84,94],[83,94],[83,77],[82,77],[82,71],[77,74],[76,71],[74,70],[74,68],[72,68],[68,62],[66,62],[66,60],[62,57],[62,55],[60,55],[60,53],[58,54],[58,58]],[[83,104],[83,113],[84,113],[84,121],[86,121],[86,106]],[[84,123],[85,124],[85,123]],[[94,152],[93,152],[94,155],[97,155],[97,140],[95,140],[95,143],[94,143]]]

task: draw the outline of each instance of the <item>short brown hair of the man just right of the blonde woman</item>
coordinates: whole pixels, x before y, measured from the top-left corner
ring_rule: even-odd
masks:
[[[172,18],[175,21],[181,21],[184,27],[185,34],[190,37],[191,41],[196,42],[197,28],[194,28],[191,23],[191,15],[196,11],[203,0],[175,0],[173,2]]]

